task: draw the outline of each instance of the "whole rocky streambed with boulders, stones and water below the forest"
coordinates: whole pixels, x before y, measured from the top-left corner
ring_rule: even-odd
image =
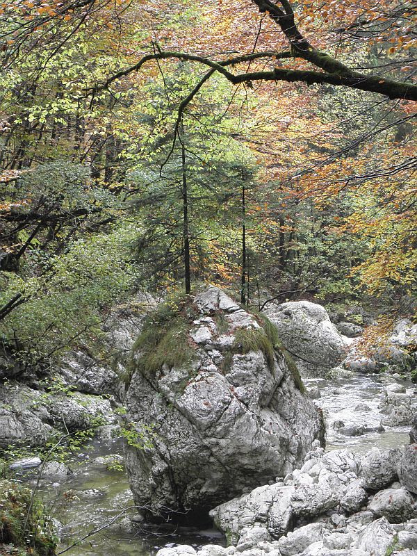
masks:
[[[192,352],[175,366],[164,343],[142,344],[126,391],[114,369],[128,368],[143,330],[142,307],[115,311],[106,331],[113,368],[72,352],[46,389],[6,379],[0,388],[5,448],[36,446],[51,434],[106,423],[70,468],[54,461],[39,468],[60,550],[80,556],[158,550],[159,556],[417,554],[417,450],[409,444],[413,420],[411,441],[417,441],[416,396],[407,380],[415,325],[401,321],[389,350],[364,358],[357,350],[358,325],[342,321],[336,328],[309,302],[280,307],[268,311],[281,329],[279,349],[268,320],[217,288],[202,291],[192,306],[177,307],[177,328],[163,310],[161,338],[173,334],[174,352],[181,342]],[[151,374],[155,352],[158,368]],[[303,370],[306,393],[291,357]],[[117,433],[117,410],[123,413],[124,406],[122,419],[133,436],[123,450],[109,431]],[[150,432],[152,446],[138,445],[143,432]],[[143,508],[145,499],[151,505]],[[210,527],[211,509],[218,530],[145,524],[144,516],[149,521],[164,505],[186,510],[204,527]]]

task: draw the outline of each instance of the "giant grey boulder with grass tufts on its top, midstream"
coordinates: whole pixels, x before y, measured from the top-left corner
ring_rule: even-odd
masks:
[[[297,368],[273,347],[275,334],[214,287],[149,316],[126,394],[138,438],[126,443],[126,468],[149,520],[190,510],[190,519],[206,517],[286,475],[322,434]]]

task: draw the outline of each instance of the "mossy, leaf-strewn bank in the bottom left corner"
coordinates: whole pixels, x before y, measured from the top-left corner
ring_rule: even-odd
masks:
[[[0,480],[0,547],[12,544],[19,555],[52,556],[57,540],[42,504],[32,503],[31,489]]]

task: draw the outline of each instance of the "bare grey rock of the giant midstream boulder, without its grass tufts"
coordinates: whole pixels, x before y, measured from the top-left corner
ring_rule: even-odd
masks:
[[[254,317],[228,300],[208,288],[195,297],[195,306],[204,317],[221,304],[226,316],[238,315],[254,328]],[[229,334],[222,336],[232,337],[235,325],[229,322]],[[126,469],[135,503],[149,507],[151,520],[165,509],[207,512],[248,487],[284,476],[302,464],[320,436],[320,415],[297,388],[283,354],[276,352],[268,363],[260,350],[234,353],[221,368],[210,355],[218,340],[213,332],[210,347],[196,348],[192,368],[163,368],[152,376],[138,369],[131,379],[127,418],[138,423],[138,433],[146,425],[153,432],[145,450],[126,444]],[[222,353],[229,349],[222,347]]]

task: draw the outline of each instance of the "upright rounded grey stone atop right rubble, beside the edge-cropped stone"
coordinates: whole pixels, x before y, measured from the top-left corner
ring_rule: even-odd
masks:
[[[398,462],[401,452],[398,448],[379,450],[373,448],[362,458],[361,486],[368,490],[380,490],[398,480]]]

